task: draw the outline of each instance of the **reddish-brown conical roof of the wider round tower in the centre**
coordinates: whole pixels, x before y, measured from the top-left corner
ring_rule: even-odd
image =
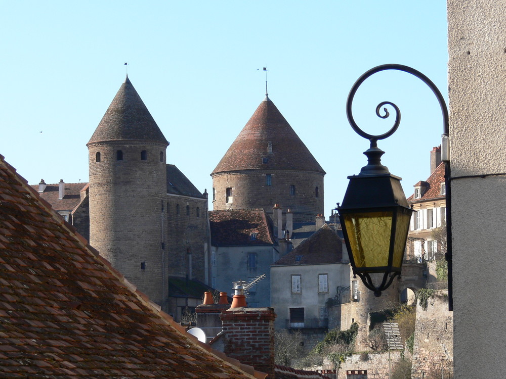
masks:
[[[268,152],[271,143],[272,153]],[[235,170],[303,170],[325,174],[290,124],[266,97],[213,174]]]

